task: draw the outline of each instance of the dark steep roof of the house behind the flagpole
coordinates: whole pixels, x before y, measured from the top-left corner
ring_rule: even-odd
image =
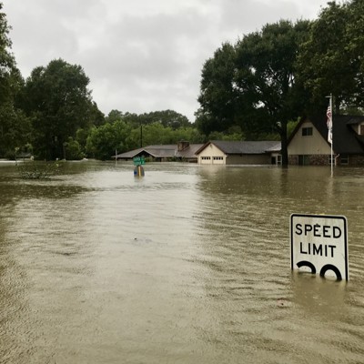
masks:
[[[326,116],[312,116],[302,119],[289,137],[288,144],[298,132],[299,127],[305,121],[310,121],[319,131],[319,134],[328,140],[328,126]],[[335,153],[341,154],[363,154],[364,137],[359,136],[352,128],[364,122],[364,116],[334,115],[332,118],[332,147]],[[329,142],[328,142],[329,144]]]

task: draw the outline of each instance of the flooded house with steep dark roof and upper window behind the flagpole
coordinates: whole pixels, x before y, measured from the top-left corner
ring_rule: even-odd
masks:
[[[333,116],[332,124],[334,163],[364,165],[364,116]],[[302,119],[288,138],[288,163],[322,166],[329,165],[330,159],[326,117]]]

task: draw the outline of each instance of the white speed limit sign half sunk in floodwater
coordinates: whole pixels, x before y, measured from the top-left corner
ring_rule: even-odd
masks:
[[[347,218],[290,216],[290,267],[349,280]]]

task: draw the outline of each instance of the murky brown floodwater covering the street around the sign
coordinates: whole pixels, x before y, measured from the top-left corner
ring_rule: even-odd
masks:
[[[363,363],[364,168],[0,165],[0,363]],[[344,215],[349,282],[290,270]]]

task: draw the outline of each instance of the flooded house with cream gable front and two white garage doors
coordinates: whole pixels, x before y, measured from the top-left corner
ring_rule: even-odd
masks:
[[[209,141],[197,154],[199,165],[270,165],[280,164],[278,141]]]

